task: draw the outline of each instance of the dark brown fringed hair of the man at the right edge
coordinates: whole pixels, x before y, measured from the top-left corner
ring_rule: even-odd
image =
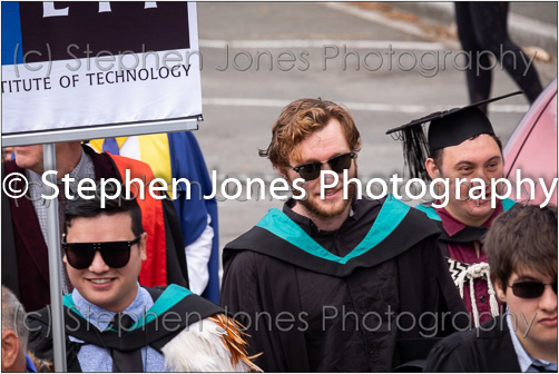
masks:
[[[483,239],[491,282],[503,291],[513,272],[557,277],[557,207],[516,204],[498,216]]]

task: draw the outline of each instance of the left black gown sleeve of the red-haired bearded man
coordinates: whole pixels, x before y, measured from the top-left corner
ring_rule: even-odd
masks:
[[[262,353],[254,363],[265,372],[308,371],[301,326],[278,325],[280,313],[296,317],[301,312],[291,288],[294,273],[293,266],[249,250],[225,264],[220,305],[246,327],[248,353]]]

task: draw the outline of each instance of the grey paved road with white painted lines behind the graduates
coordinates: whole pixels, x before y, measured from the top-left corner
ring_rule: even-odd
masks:
[[[196,136],[208,168],[222,179],[276,177],[257,150],[267,146],[282,107],[301,97],[322,97],[351,109],[363,138],[359,168],[364,180],[402,173],[400,145],[384,135],[386,129],[467,104],[464,72],[458,69],[464,65],[448,41],[425,40],[418,26],[409,28],[405,21],[363,9],[354,14],[347,7],[198,3],[205,121]],[[353,52],[345,69],[344,46],[345,52]],[[336,51],[337,57],[325,58]],[[421,56],[423,68],[419,62],[412,68],[413,59]],[[278,62],[290,59],[293,61]],[[538,62],[537,67],[545,85],[555,78],[556,62]],[[493,95],[516,89],[508,75],[497,68]],[[523,97],[491,107],[491,119],[504,141],[527,108]],[[278,200],[254,199],[219,203],[220,246],[251,228],[268,208],[281,205]]]

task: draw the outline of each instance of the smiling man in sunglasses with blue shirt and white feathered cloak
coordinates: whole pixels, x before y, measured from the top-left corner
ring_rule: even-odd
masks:
[[[257,370],[223,308],[177,285],[139,285],[146,242],[135,200],[68,205],[63,262],[75,286],[63,297],[68,371]],[[31,351],[52,360],[48,307],[29,317]]]

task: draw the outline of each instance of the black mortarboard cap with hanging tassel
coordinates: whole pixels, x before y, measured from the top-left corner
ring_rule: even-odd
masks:
[[[403,142],[404,160],[411,178],[426,180],[429,176],[425,170],[425,160],[434,150],[458,146],[462,141],[481,134],[494,135],[493,127],[479,108],[480,106],[520,94],[523,94],[523,91],[507,94],[462,108],[437,111],[412,120],[406,125],[390,129],[386,135],[399,132],[398,139]],[[431,122],[429,126],[429,141],[425,139],[422,126],[428,122]]]

